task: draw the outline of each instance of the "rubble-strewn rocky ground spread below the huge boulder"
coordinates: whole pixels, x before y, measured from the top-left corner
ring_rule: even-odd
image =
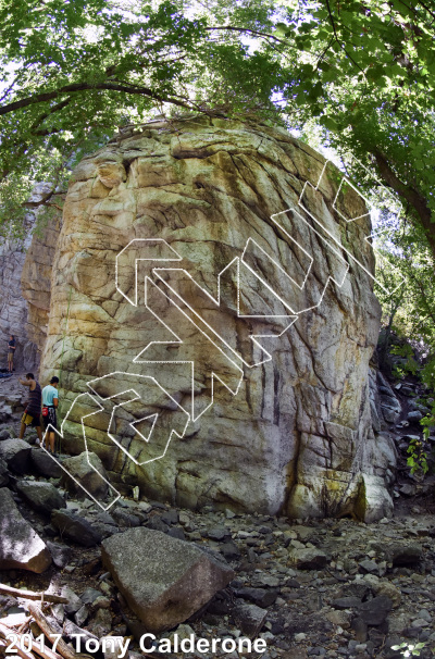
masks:
[[[9,440],[0,440],[3,457],[10,453],[5,443]],[[23,450],[29,453],[26,468]],[[234,644],[240,636],[260,638],[266,646],[263,659],[391,658],[400,657],[391,646],[403,642],[423,643],[422,657],[432,656],[435,526],[433,509],[426,509],[431,482],[420,487],[419,498],[412,498],[405,492],[413,481],[400,478],[393,519],[370,525],[350,519],[289,521],[276,515],[237,514],[229,509],[216,512],[212,507],[194,512],[133,499],[121,500],[102,512],[89,499],[69,496],[59,473],[48,477],[46,470],[53,463],[44,459],[41,449],[27,445],[17,451],[21,459],[14,469],[9,458],[8,483],[0,489],[0,498],[13,497],[16,502],[10,501],[8,510],[0,506],[2,540],[4,544],[17,533],[11,525],[7,529],[5,521],[22,514],[24,519],[15,526],[21,534],[38,534],[42,547],[33,550],[44,561],[49,552],[52,564],[47,568],[46,562],[41,565],[45,571],[34,574],[35,559],[27,556],[32,563],[4,570],[10,564],[4,563],[0,543],[0,582],[65,596],[67,602],[46,608],[46,616],[66,643],[77,647],[76,635],[83,634],[82,651],[86,651],[88,638],[98,639],[101,648],[108,635],[123,644],[132,637],[126,657],[138,659],[144,656],[140,638],[153,629],[157,617],[163,627],[169,620],[166,631],[157,631],[157,643],[163,638],[174,643],[175,636],[179,643],[191,634],[197,639],[227,638]],[[152,534],[151,552],[142,543],[132,542],[137,534]],[[21,548],[16,543],[13,547],[22,560]],[[211,584],[203,584],[200,577],[190,581],[198,552],[201,560],[212,560],[219,571],[223,570],[229,582],[224,587],[225,581],[221,586],[217,581],[217,592],[208,595],[202,608],[204,586]],[[147,579],[140,579],[144,570],[149,572]],[[182,601],[171,611],[171,607],[162,608],[162,601],[172,593],[174,606],[174,583]],[[189,589],[183,595],[185,583]],[[159,598],[154,597],[157,592]],[[135,601],[139,618],[128,606]],[[199,610],[188,618],[192,606]],[[22,624],[28,607],[28,600],[0,595],[4,624]],[[141,607],[148,624],[140,620]],[[39,636],[40,629],[34,622],[30,627],[34,637]],[[96,659],[117,656],[100,650],[88,655]],[[221,655],[188,650],[152,654],[159,656],[212,659]],[[237,659],[260,654],[232,651],[222,656]]]

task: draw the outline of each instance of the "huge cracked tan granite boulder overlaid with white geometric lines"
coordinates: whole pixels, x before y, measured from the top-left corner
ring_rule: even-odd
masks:
[[[224,119],[150,122],[82,161],[41,361],[42,382],[62,363],[65,450],[192,509],[390,513],[370,222],[324,165]]]

